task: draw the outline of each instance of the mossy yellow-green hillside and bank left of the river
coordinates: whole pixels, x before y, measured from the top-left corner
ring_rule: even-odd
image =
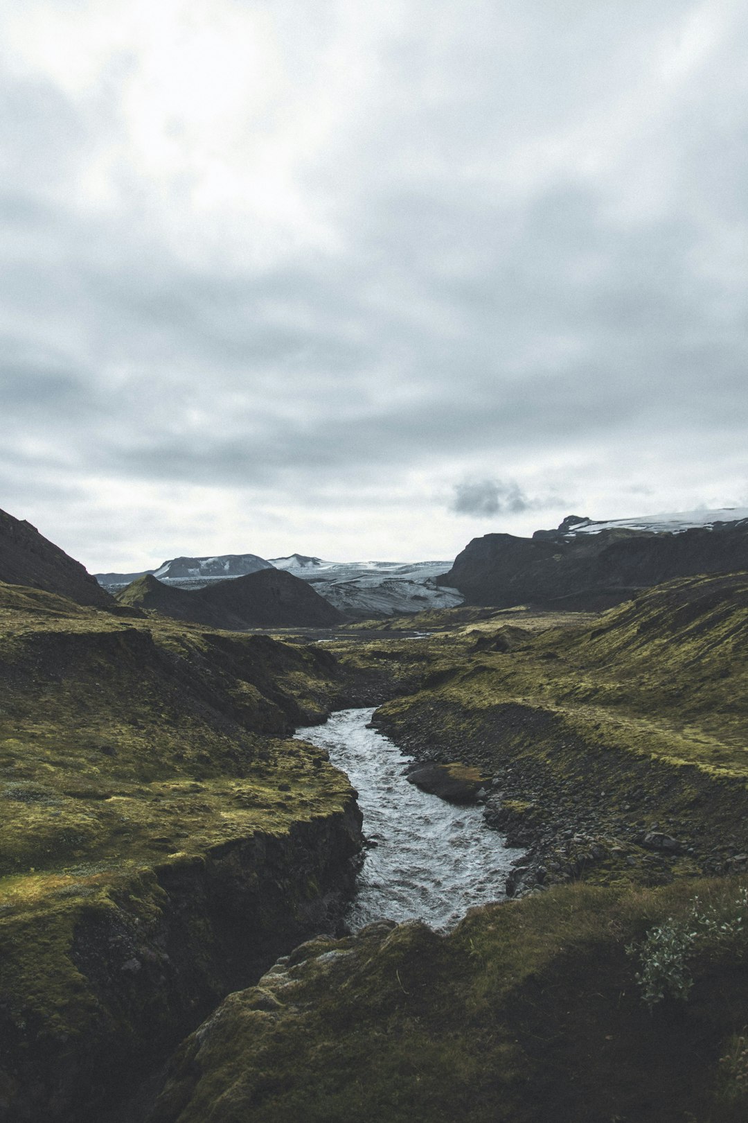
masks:
[[[351,884],[358,825],[345,777],[273,736],[324,715],[329,654],[15,586],[0,586],[0,1037],[9,1117],[35,1119],[45,1101],[24,1106],[26,1080],[41,1088],[26,1057],[74,1081],[99,1038],[124,1060],[141,1038],[154,1048],[142,980],[170,977],[157,970],[166,947],[172,960],[191,948],[194,993],[158,999],[158,1024],[174,1015],[184,1031],[193,999],[237,985],[240,964],[247,980],[268,925],[277,953],[325,922],[325,900]],[[120,995],[109,976],[128,982],[116,952],[141,907],[157,933],[135,941],[144,955],[128,957],[139,966]]]

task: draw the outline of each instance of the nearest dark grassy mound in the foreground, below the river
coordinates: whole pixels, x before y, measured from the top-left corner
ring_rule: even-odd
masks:
[[[449,935],[372,925],[315,941],[233,994],[174,1058],[150,1123],[738,1123],[745,933],[693,966],[689,1002],[641,1002],[626,947],[698,891],[574,885],[477,909]],[[735,1081],[733,1081],[735,1090]]]

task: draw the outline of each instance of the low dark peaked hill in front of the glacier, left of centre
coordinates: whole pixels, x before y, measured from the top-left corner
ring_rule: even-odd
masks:
[[[344,617],[305,582],[264,568],[203,588],[174,588],[153,574],[117,594],[120,604],[150,609],[209,628],[327,628]]]

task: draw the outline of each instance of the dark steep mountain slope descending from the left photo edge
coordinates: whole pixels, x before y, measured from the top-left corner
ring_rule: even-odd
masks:
[[[44,538],[26,520],[0,511],[0,581],[68,596],[79,604],[113,604],[80,562]]]

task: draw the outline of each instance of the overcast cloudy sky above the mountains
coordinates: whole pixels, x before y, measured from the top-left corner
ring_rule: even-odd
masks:
[[[0,506],[91,572],[748,504],[741,0],[4,0]]]

